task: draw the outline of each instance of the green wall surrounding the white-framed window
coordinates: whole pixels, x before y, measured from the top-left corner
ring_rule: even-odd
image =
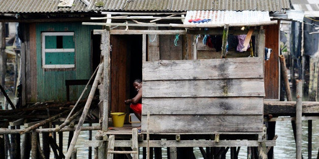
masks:
[[[89,79],[91,75],[91,39],[93,29],[101,29],[101,26],[82,25],[81,23],[38,23],[36,25],[37,42],[37,101],[65,101],[67,79]],[[41,59],[41,31],[74,31],[76,68],[75,70],[45,70],[42,68]],[[71,86],[70,99],[76,100],[84,86]],[[89,92],[89,91],[87,91]],[[35,101],[31,101],[35,102]]]

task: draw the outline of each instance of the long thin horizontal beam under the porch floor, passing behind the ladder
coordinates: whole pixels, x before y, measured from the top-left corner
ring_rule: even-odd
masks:
[[[88,141],[85,141],[87,143]],[[88,144],[92,147],[99,146],[102,140],[90,141]],[[258,146],[257,140],[219,140],[215,142],[214,140],[150,140],[150,147],[230,147],[230,146]],[[127,147],[132,146],[131,140],[115,140],[115,147]],[[139,141],[139,147],[146,147],[146,140]],[[266,146],[276,146],[275,140],[266,140]]]

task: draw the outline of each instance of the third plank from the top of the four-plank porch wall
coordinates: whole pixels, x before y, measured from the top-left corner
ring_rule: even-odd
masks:
[[[258,114],[263,97],[230,98],[143,98],[142,114]]]

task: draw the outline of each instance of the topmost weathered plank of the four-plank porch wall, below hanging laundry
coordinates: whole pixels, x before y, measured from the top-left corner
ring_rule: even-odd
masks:
[[[263,78],[262,70],[262,58],[161,60],[143,65],[143,82],[169,79]]]

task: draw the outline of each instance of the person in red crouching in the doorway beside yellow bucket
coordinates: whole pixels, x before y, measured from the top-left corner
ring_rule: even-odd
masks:
[[[142,80],[135,79],[133,86],[137,91],[137,95],[132,99],[125,100],[125,104],[130,104],[130,108],[141,121],[142,118]]]

